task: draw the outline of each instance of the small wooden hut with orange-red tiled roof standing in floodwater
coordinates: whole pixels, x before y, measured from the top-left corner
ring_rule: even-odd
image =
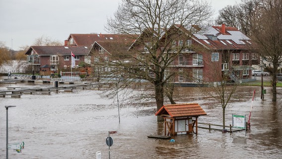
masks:
[[[198,103],[186,103],[163,105],[155,115],[161,115],[164,118],[164,135],[174,136],[198,134],[198,117],[207,113]]]

